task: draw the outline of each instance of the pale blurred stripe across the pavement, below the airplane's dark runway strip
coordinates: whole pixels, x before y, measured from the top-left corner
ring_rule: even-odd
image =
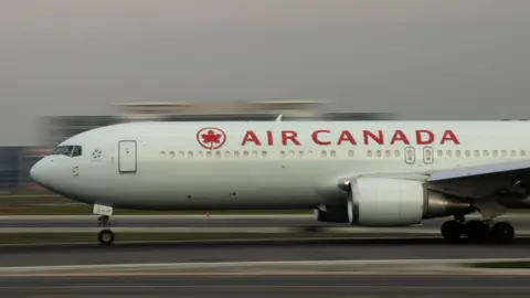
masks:
[[[358,272],[319,272],[318,268],[309,268],[308,270],[282,270],[274,269],[278,266],[348,266],[348,265],[457,265],[471,264],[480,262],[518,262],[530,260],[530,258],[458,258],[458,259],[363,259],[363,260],[287,260],[287,262],[220,262],[220,263],[163,263],[163,264],[110,264],[110,265],[66,265],[66,266],[21,266],[21,267],[3,267],[0,268],[1,277],[29,277],[29,276],[55,276],[55,277],[87,277],[87,276],[263,276],[263,275],[369,275],[384,274],[381,269],[361,268]],[[261,268],[261,267],[269,268]],[[242,272],[242,269],[251,267],[252,269],[262,269],[264,272]],[[240,272],[187,272],[187,273],[161,273],[163,269],[239,269]],[[136,270],[136,272],[102,272],[102,270]],[[266,272],[268,269],[268,272]],[[344,268],[348,269],[348,268]],[[383,268],[384,269],[384,268]],[[407,268],[410,269],[410,267]],[[89,270],[83,273],[83,270]],[[140,270],[159,270],[157,273]],[[389,273],[389,268],[385,269]],[[392,272],[392,270],[390,270]],[[421,272],[421,273],[418,273]],[[415,272],[400,272],[396,274],[420,275],[424,272],[431,272],[432,275],[490,275],[492,273],[510,274],[510,275],[529,275],[528,269],[480,269],[467,267],[447,267],[438,270],[432,267],[417,268]],[[392,272],[392,274],[394,274]]]

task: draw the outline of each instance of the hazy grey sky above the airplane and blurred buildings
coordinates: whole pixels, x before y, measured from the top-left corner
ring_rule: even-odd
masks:
[[[116,102],[530,118],[528,0],[2,0],[0,145]]]

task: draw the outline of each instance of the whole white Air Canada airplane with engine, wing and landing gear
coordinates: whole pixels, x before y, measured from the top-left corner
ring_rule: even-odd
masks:
[[[515,227],[496,219],[530,205],[529,134],[526,121],[137,121],[75,135],[30,174],[93,205],[103,245],[114,209],[307,209],[371,227],[449,217],[449,242],[506,243]]]

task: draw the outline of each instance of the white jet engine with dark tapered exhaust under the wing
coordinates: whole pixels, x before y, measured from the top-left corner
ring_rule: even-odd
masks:
[[[349,223],[361,226],[406,226],[471,211],[469,201],[426,190],[421,181],[383,178],[351,182],[347,206]]]

